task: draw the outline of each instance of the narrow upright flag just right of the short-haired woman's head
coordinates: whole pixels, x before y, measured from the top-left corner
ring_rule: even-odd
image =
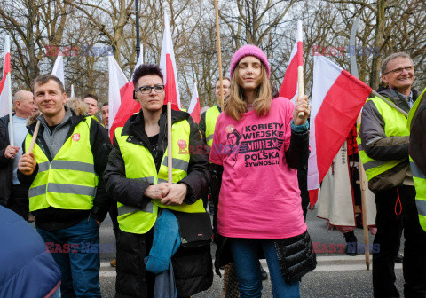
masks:
[[[162,56],[160,58],[160,68],[162,68],[162,75],[164,75],[164,85],[166,98],[164,98],[164,105],[171,102],[173,110],[180,111],[180,97],[179,88],[177,86],[177,71],[176,60],[173,51],[173,43],[171,41],[169,16],[164,12],[164,35],[162,36]]]

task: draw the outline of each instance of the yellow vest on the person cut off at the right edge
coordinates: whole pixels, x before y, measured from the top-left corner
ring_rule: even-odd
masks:
[[[414,106],[411,108],[410,113],[408,114],[407,119],[407,128],[411,130],[411,122],[413,120],[414,114],[417,112],[418,107],[422,101],[422,97],[426,89],[423,90],[422,94],[414,103]],[[426,156],[426,153],[425,153]],[[417,206],[417,212],[419,214],[419,222],[423,230],[426,231],[426,176],[422,170],[417,166],[414,160],[410,156],[410,166],[411,171],[413,172],[413,180],[415,185],[415,204]]]

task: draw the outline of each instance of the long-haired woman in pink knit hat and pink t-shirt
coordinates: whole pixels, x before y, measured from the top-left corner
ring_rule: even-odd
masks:
[[[259,258],[268,263],[274,297],[299,297],[299,279],[316,266],[296,170],[309,156],[310,107],[306,96],[296,106],[272,98],[270,75],[255,45],[234,53],[231,92],[210,153],[223,170],[215,266],[219,274],[219,267],[235,264],[241,298],[261,296]]]

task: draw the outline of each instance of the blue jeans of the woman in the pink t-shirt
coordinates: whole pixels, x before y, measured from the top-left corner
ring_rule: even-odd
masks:
[[[289,285],[282,278],[277,253],[272,239],[229,239],[233,263],[237,271],[241,298],[262,296],[262,273],[259,266],[259,248],[264,251],[275,298],[300,297],[299,282]]]

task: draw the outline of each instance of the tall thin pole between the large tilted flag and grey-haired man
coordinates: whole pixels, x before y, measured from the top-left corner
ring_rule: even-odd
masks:
[[[354,20],[353,26],[351,28],[351,36],[350,36],[350,46],[352,49],[355,49],[355,37],[358,30],[359,17]],[[359,78],[358,76],[358,66],[357,66],[357,58],[355,55],[351,55],[351,73],[353,76]],[[357,130],[361,124],[361,113],[359,113],[357,118]],[[361,158],[359,157],[359,186],[361,189],[361,213],[362,213],[362,227],[364,230],[364,255],[366,259],[367,270],[370,270],[370,245],[368,239],[368,223],[367,223],[367,176],[366,171],[364,169],[364,165],[362,164]]]

